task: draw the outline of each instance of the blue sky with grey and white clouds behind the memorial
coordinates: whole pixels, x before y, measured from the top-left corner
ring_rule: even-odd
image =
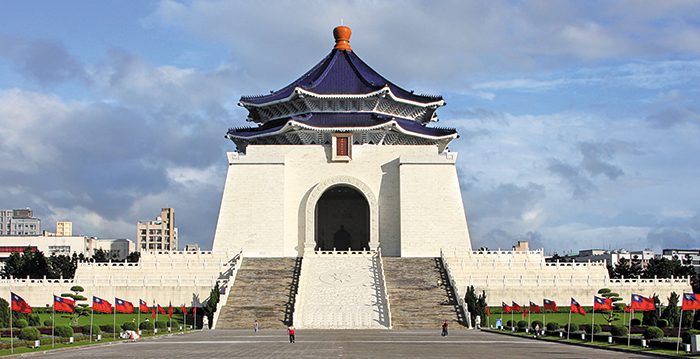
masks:
[[[0,207],[210,248],[242,95],[332,48],[442,95],[473,246],[700,247],[696,1],[7,1]]]

